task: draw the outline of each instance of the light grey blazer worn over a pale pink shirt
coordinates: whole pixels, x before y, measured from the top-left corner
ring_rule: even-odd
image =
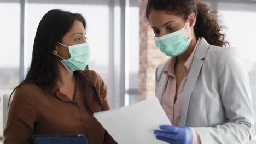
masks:
[[[170,60],[168,60],[170,61]],[[168,63],[155,73],[160,103]],[[202,38],[194,55],[182,97],[181,126],[194,127],[202,143],[246,143],[254,134],[249,77],[235,49],[213,46]]]

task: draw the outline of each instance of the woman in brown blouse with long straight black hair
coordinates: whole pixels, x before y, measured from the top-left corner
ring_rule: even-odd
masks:
[[[109,110],[100,75],[84,70],[90,49],[81,14],[50,10],[39,23],[31,67],[14,89],[4,143],[33,143],[36,134],[84,134],[116,143],[92,115]]]

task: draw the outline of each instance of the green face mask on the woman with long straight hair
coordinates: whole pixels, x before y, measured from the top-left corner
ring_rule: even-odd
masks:
[[[88,44],[83,43],[83,44],[72,45],[72,46],[66,46],[66,45],[63,45],[63,46],[68,47],[69,53],[71,55],[71,58],[69,59],[63,59],[62,57],[57,55],[61,59],[63,59],[60,62],[65,66],[65,68],[71,73],[73,73],[75,70],[84,70],[85,67],[88,65],[89,58],[90,58],[90,49]]]

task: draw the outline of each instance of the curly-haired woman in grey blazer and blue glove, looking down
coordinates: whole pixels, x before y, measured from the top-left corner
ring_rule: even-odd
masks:
[[[246,143],[254,133],[249,77],[226,48],[216,11],[197,0],[149,0],[155,43],[171,58],[156,69],[156,92],[171,125],[167,143]],[[225,48],[224,48],[225,47]]]

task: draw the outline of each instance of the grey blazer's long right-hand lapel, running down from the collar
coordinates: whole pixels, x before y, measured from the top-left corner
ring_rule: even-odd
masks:
[[[191,94],[193,92],[197,77],[201,71],[203,62],[208,51],[209,44],[202,38],[199,45],[196,48],[196,52],[193,58],[193,62],[188,74],[188,79],[184,87],[183,97],[182,97],[182,110],[181,110],[181,122],[180,125],[184,126],[186,123],[188,106]]]

